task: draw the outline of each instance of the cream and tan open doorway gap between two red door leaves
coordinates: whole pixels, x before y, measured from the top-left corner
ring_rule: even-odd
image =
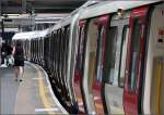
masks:
[[[94,107],[94,97],[93,97],[93,79],[95,76],[95,39],[97,38],[97,27],[94,25],[96,18],[91,20],[87,28],[87,43],[86,43],[86,53],[85,53],[85,68],[84,68],[84,78],[83,78],[83,87],[86,97],[86,106],[89,113],[95,112]],[[90,106],[89,106],[90,105]]]

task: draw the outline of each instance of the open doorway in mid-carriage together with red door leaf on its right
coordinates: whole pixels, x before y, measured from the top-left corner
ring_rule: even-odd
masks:
[[[89,114],[104,114],[103,104],[103,59],[109,15],[89,22],[83,89]]]

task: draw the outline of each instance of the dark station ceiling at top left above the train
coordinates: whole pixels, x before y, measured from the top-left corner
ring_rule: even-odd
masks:
[[[0,0],[0,13],[70,13],[86,1],[87,0]]]

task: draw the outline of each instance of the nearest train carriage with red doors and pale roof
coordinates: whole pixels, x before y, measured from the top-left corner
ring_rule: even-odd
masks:
[[[160,79],[164,76],[163,40],[159,42],[154,39],[156,47],[161,46],[156,49],[159,60],[155,58],[160,64],[155,65],[159,69],[153,68],[152,64],[149,66],[150,63],[155,63],[152,53],[149,53],[155,48],[147,47],[153,39],[150,36],[151,29],[156,37],[163,31],[163,1],[107,1],[83,11],[79,28],[80,34],[84,31],[84,35],[81,35],[83,38],[79,36],[79,67],[74,69],[74,88],[79,88],[75,90],[79,111],[84,112],[85,108],[87,114],[163,113],[161,101],[164,95],[160,87]],[[157,15],[157,21],[153,20]],[[155,24],[159,26],[154,26]],[[156,69],[156,75],[150,75],[147,66],[152,71]],[[151,76],[157,76],[156,82],[151,82]],[[156,88],[156,95],[153,95],[152,87]],[[145,95],[148,92],[149,95]],[[150,103],[156,103],[156,107]]]

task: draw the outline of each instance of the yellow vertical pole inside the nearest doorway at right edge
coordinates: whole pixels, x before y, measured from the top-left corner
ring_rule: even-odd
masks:
[[[157,68],[157,115],[161,115],[162,64]]]

